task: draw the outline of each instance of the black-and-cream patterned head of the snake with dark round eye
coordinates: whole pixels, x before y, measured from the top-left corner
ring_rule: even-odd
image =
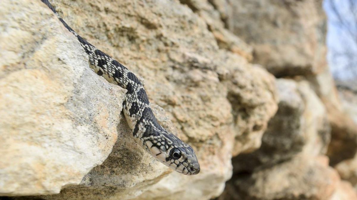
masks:
[[[195,151],[172,133],[165,131],[150,136],[144,145],[148,153],[176,172],[185,175],[195,175],[200,172]]]

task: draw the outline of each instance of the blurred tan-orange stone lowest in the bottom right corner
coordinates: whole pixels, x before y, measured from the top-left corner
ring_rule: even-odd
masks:
[[[341,182],[337,172],[328,166],[325,156],[298,155],[288,162],[235,178],[231,193],[223,193],[221,199],[325,200],[356,196],[351,185]],[[345,184],[347,187],[342,188]]]

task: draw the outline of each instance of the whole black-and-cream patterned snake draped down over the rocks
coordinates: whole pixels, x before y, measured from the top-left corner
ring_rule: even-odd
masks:
[[[136,143],[156,160],[176,172],[185,175],[198,174],[200,164],[195,151],[159,124],[152,112],[144,86],[136,75],[78,35],[59,16],[48,0],[41,1],[54,12],[64,27],[80,42],[88,55],[90,68],[108,82],[127,90],[123,101],[123,112]]]

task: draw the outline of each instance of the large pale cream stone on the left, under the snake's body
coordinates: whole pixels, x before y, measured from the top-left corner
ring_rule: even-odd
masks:
[[[92,72],[44,7],[0,2],[0,195],[79,184],[107,158],[122,120],[126,90]]]

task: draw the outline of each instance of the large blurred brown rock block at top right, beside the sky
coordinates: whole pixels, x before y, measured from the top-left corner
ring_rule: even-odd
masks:
[[[253,46],[253,62],[277,77],[326,68],[326,16],[317,1],[231,1],[228,28]],[[220,6],[222,7],[222,6]]]

